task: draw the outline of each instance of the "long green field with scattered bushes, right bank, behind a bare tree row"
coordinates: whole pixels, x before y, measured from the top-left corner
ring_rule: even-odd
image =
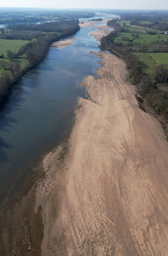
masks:
[[[121,34],[121,35],[120,35]],[[131,33],[117,33],[117,35],[116,35],[116,38],[115,38],[115,41],[118,41],[118,39],[121,41],[121,38],[123,37],[123,36],[125,36],[125,37],[128,37],[129,39],[132,39],[133,38],[133,36],[131,35]],[[135,41],[135,42],[141,42],[141,43],[144,43],[144,41],[147,41],[147,42],[145,42],[145,43],[150,43],[150,42],[154,42],[154,41],[157,41],[157,40],[159,40],[159,41],[161,41],[161,40],[165,40],[165,41],[167,41],[167,37],[165,36],[165,35],[160,35],[160,38],[158,38],[158,35],[150,35],[150,34],[139,34],[139,37],[138,38],[136,38],[136,39],[134,39],[133,41]]]

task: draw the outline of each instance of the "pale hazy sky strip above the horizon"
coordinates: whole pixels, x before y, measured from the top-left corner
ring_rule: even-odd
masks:
[[[168,9],[168,0],[0,0],[0,7]]]

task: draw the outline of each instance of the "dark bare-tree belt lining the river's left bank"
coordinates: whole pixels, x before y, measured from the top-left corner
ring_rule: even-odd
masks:
[[[11,86],[15,84],[21,78],[21,76],[23,76],[29,69],[34,68],[39,64],[47,53],[51,43],[60,38],[65,38],[72,35],[80,29],[78,20],[74,20],[71,23],[67,21],[67,23],[63,23],[64,30],[61,33],[52,32],[48,33],[46,37],[39,37],[36,41],[29,42],[28,44],[22,46],[17,53],[7,50],[7,58],[11,61],[0,61],[1,67],[7,70],[6,72],[3,72],[2,76],[0,77],[0,101],[2,101],[3,97],[7,94]],[[21,68],[21,64],[18,60],[13,61],[13,59],[18,56],[22,56],[22,58],[24,57],[28,60],[26,67]]]

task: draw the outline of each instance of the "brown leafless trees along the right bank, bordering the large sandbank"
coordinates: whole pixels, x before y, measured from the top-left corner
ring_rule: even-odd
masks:
[[[158,115],[163,115],[165,121],[168,122],[168,90],[163,88],[159,89],[154,84],[154,80],[168,82],[168,64],[158,65],[153,76],[142,73],[139,66],[139,58],[135,56],[130,49],[124,47],[123,44],[121,47],[114,42],[115,36],[116,31],[114,30],[110,32],[109,35],[102,37],[100,42],[101,47],[111,49],[124,59],[129,71],[129,76],[133,84],[136,85],[137,92],[143,99],[146,99],[147,104],[152,107]]]

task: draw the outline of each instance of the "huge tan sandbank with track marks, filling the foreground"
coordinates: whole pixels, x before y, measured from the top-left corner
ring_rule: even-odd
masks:
[[[97,55],[100,78],[82,83],[90,100],[79,99],[67,156],[64,145],[44,159],[42,255],[166,256],[166,142],[125,84],[124,61]]]

